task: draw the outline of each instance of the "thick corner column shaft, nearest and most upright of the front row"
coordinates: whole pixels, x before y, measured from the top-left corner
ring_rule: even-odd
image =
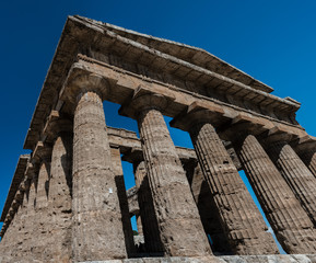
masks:
[[[73,130],[73,260],[126,258],[103,104],[96,93],[81,95]]]

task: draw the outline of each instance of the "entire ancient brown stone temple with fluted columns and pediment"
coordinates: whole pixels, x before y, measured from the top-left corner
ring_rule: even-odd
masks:
[[[300,103],[272,91],[203,49],[69,16],[2,211],[0,262],[316,262],[316,138]],[[104,101],[139,137],[106,126]],[[164,115],[195,149],[173,144]]]

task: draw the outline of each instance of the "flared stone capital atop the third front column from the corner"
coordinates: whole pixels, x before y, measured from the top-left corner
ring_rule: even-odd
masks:
[[[195,101],[173,118],[171,126],[189,132],[192,126],[200,123],[211,123],[216,127],[230,121],[221,106],[215,104],[210,106],[209,103],[207,105],[202,101]]]

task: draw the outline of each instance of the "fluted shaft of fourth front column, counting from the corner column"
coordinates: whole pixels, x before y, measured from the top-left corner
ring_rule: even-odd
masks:
[[[254,135],[235,141],[245,173],[277,239],[289,254],[312,254],[316,235],[300,202]]]

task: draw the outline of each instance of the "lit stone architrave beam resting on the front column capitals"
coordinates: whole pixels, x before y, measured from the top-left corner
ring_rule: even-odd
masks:
[[[300,136],[306,134],[306,132],[300,125],[293,125],[267,115],[249,112],[239,106],[227,104],[212,98],[179,89],[177,87],[172,87],[163,82],[153,81],[149,78],[141,78],[139,75],[83,56],[80,56],[79,61],[73,65],[69,76],[86,75],[89,72],[95,72],[106,78],[110,87],[107,94],[107,100],[121,105],[129,104],[130,100],[133,98],[134,91],[140,88],[144,89],[143,87],[145,87],[147,90],[150,90],[150,92],[154,94],[171,99],[175,98],[173,103],[171,103],[163,111],[163,114],[166,116],[175,117],[182,112],[187,111],[190,104],[199,101],[199,103],[204,104],[206,108],[210,111],[213,108],[221,108],[221,111],[224,112],[223,116],[227,118],[234,118],[241,112],[248,113],[258,118],[261,118],[262,121],[270,121],[278,126],[284,126],[284,129],[289,130],[290,133],[297,134]],[[66,106],[66,108],[68,108],[68,106]],[[121,114],[128,113],[124,113],[124,110],[121,110]]]

